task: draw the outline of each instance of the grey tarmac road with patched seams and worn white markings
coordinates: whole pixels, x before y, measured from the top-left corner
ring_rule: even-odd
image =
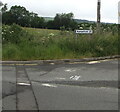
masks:
[[[118,110],[118,60],[2,67],[3,110]]]

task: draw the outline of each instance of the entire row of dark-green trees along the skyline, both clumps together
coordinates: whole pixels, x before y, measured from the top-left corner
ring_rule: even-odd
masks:
[[[56,14],[53,20],[46,21],[43,17],[39,17],[34,12],[29,12],[23,6],[12,6],[10,10],[7,8],[7,4],[1,8],[2,11],[2,23],[11,25],[13,23],[23,27],[32,28],[48,28],[48,29],[75,29],[77,23],[74,20],[73,13]]]

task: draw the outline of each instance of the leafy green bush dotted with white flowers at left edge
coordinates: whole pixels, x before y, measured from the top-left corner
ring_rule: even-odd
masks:
[[[25,37],[25,38],[24,38]],[[2,26],[2,42],[18,44],[22,40],[31,40],[30,34],[23,30],[19,25],[13,24],[11,26]]]

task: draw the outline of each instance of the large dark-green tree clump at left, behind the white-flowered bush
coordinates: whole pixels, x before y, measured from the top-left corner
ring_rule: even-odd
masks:
[[[5,6],[4,6],[5,10]],[[44,18],[38,17],[38,14],[29,12],[25,7],[12,6],[9,11],[3,14],[4,24],[16,23],[21,26],[43,28]]]

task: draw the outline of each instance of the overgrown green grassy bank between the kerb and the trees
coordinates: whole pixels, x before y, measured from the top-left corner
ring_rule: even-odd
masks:
[[[16,31],[18,26],[13,26],[11,29],[15,31],[10,34],[14,38],[10,40],[11,26],[4,27],[8,32],[3,32],[3,60],[73,59],[118,54],[117,32],[78,35],[76,38],[73,31],[21,27],[22,30]]]

